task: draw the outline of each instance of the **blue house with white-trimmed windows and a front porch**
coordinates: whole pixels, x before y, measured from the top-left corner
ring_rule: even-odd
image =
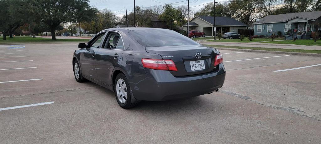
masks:
[[[311,33],[317,31],[313,22],[320,20],[320,17],[321,11],[268,15],[254,23],[254,35],[270,36],[281,31],[282,36],[289,35],[287,39],[309,39]]]

